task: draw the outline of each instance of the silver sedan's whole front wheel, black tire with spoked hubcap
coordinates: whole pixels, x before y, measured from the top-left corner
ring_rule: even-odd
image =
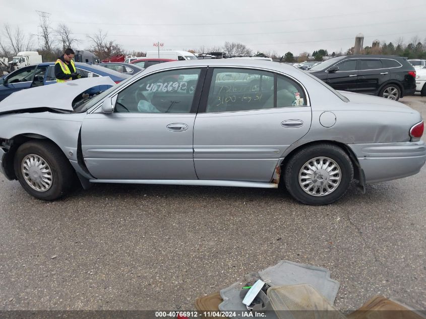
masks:
[[[49,141],[37,140],[22,144],[15,154],[14,169],[26,192],[45,201],[64,196],[75,180],[75,173],[68,159]]]

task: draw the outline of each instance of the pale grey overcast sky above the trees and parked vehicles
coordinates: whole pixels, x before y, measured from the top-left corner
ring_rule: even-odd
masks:
[[[66,23],[80,39],[74,49],[88,48],[87,35],[100,29],[128,51],[154,50],[157,41],[165,50],[197,51],[228,41],[254,52],[296,55],[345,52],[358,33],[364,46],[375,39],[426,38],[425,0],[0,0],[0,9],[2,30],[8,23],[26,34],[38,32],[36,10],[48,12],[53,28]]]

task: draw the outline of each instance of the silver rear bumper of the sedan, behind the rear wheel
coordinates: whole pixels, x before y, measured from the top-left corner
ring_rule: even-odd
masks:
[[[350,144],[366,183],[403,178],[418,173],[426,162],[423,141],[401,143]]]

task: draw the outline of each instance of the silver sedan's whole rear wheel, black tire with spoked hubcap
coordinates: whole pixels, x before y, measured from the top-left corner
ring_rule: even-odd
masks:
[[[323,165],[327,163],[337,165],[331,169],[332,174],[316,168],[309,170],[313,172],[312,175],[304,173],[302,169],[307,167],[308,163],[315,167],[313,161],[316,165],[321,162]],[[340,173],[336,171],[338,168]],[[312,179],[309,178],[310,176]],[[321,181],[320,178],[323,180]],[[349,156],[341,148],[329,144],[318,144],[301,149],[290,158],[284,168],[284,182],[288,193],[297,201],[307,205],[327,205],[336,202],[347,192],[352,178],[353,166]],[[310,187],[312,184],[309,183],[310,181],[316,184]],[[306,184],[302,186],[301,183]],[[321,186],[321,183],[324,184]]]

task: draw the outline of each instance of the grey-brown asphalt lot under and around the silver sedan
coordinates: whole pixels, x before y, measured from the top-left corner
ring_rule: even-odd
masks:
[[[426,98],[401,101],[426,118]],[[195,309],[280,260],[329,269],[341,310],[379,294],[426,309],[424,180],[312,207],[283,189],[119,184],[49,203],[0,175],[0,310]]]

